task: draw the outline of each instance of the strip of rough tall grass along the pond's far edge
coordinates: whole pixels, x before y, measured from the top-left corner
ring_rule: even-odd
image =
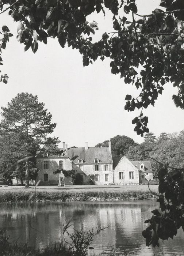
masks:
[[[67,202],[67,201],[125,201],[125,200],[149,200],[155,199],[150,191],[34,191],[34,190],[2,190],[0,191],[0,203],[4,202]]]

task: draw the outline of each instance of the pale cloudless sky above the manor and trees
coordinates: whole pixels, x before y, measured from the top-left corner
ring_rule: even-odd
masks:
[[[138,13],[149,14],[158,7],[159,0],[138,0]],[[98,22],[99,40],[104,32],[112,30],[112,15],[90,15],[87,20]],[[3,50],[2,73],[9,76],[8,84],[0,83],[0,106],[7,106],[18,93],[38,95],[52,114],[57,127],[51,136],[59,137],[68,147],[89,147],[116,135],[126,135],[135,142],[143,138],[133,131],[131,120],[139,111],[124,110],[125,96],[138,96],[135,86],[125,84],[119,75],[111,74],[110,59],[97,60],[93,65],[83,67],[82,56],[77,50],[61,48],[57,38],[48,39],[47,45],[39,43],[34,54],[31,49],[24,52],[24,45],[16,40],[17,24],[1,14],[0,26],[7,25],[14,37]],[[159,96],[155,107],[143,111],[149,116],[148,127],[159,136],[161,132],[173,133],[184,129],[184,111],[177,109],[172,95],[177,91],[169,83]]]

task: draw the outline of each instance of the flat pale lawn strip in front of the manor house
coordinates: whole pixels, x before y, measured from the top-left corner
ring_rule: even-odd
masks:
[[[150,185],[151,191],[158,193],[158,185]],[[128,192],[128,191],[141,191],[148,192],[148,185],[124,185],[124,186],[108,186],[108,185],[70,185],[65,187],[58,186],[38,186],[37,191],[47,191],[47,192]],[[35,187],[24,188],[22,186],[8,186],[8,187],[0,187],[0,191],[33,191]]]

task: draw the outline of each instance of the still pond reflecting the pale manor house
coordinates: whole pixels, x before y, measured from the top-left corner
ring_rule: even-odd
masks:
[[[120,255],[184,255],[183,230],[172,240],[160,240],[160,248],[145,246],[142,230],[150,211],[158,207],[154,201],[131,202],[65,202],[65,203],[2,203],[0,204],[0,228],[10,240],[28,242],[43,249],[51,242],[63,239],[63,226],[69,221],[69,233],[73,229],[84,231],[107,227],[94,238],[95,253],[113,247]],[[69,238],[65,234],[65,239]],[[93,251],[93,250],[92,250]]]

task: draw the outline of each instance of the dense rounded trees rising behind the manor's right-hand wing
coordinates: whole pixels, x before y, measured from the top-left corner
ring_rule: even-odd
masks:
[[[153,177],[158,178],[161,166],[184,168],[184,131],[180,133],[162,132],[158,138],[149,132],[140,144],[127,136],[117,135],[111,140],[112,157],[126,155],[130,161],[150,160]],[[108,140],[95,147],[108,147]]]

